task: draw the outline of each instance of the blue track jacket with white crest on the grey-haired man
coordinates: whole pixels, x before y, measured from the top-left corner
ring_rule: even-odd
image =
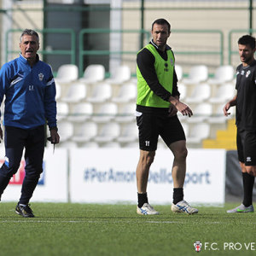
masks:
[[[5,95],[3,125],[32,129],[56,126],[55,80],[51,67],[38,61],[30,67],[20,55],[0,70],[0,103]]]

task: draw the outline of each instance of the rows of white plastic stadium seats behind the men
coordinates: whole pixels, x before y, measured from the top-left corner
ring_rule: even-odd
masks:
[[[67,132],[63,131],[64,128],[60,130],[63,133],[60,146],[68,146],[70,143],[70,147],[79,148],[138,148],[134,115],[137,84],[131,79],[131,71],[120,66],[110,79],[102,80],[102,75],[90,79],[90,75],[99,66],[86,67],[84,77],[69,84],[56,80],[58,124],[63,126],[63,123],[67,123]],[[213,78],[209,79],[207,67],[197,65],[190,68],[188,78],[183,78],[183,67],[176,66],[177,78],[181,81],[177,84],[181,93],[180,100],[191,105],[194,113],[191,118],[177,113],[190,147],[200,147],[205,138],[212,138],[214,131],[227,124],[228,118],[224,117],[222,108],[236,93],[232,70],[228,65],[217,67]],[[119,77],[122,72],[126,73],[125,79]],[[222,78],[221,74],[226,77]],[[234,116],[235,108],[230,108],[230,113]],[[116,133],[108,136],[111,134],[110,124],[113,124],[114,128],[111,129]],[[166,148],[161,140],[159,148]]]

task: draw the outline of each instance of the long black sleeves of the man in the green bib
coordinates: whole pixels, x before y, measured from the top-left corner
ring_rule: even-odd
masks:
[[[149,88],[154,91],[154,94],[160,96],[160,98],[162,98],[164,101],[169,102],[171,93],[159,83],[154,69],[154,55],[152,55],[148,49],[144,48],[137,54],[137,66],[142,73],[143,79],[145,79]],[[176,87],[177,91],[176,73],[175,77],[176,83],[173,81],[173,85],[176,84],[176,86],[173,86],[173,89]],[[175,90],[173,90],[173,92],[174,91]]]

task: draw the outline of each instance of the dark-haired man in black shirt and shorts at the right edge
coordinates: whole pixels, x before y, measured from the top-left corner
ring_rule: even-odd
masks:
[[[236,145],[241,166],[244,198],[239,207],[227,212],[253,212],[253,184],[256,176],[256,61],[255,38],[245,35],[238,40],[241,65],[236,68],[236,96],[224,106],[228,116],[236,106]]]

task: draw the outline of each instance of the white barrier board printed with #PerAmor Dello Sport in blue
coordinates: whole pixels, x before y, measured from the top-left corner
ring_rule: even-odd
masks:
[[[137,203],[135,148],[72,148],[70,198],[72,202]],[[172,152],[158,149],[149,172],[148,199],[154,204],[172,202]],[[189,149],[184,199],[223,204],[225,150]]]

